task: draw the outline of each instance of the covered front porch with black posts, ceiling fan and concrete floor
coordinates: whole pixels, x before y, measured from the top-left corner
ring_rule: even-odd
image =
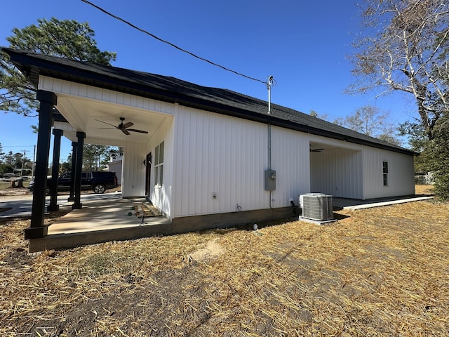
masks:
[[[67,85],[67,86],[66,86]],[[83,84],[70,84],[46,77],[39,81],[37,98],[41,103],[39,110],[39,133],[36,154],[35,190],[33,196],[32,222],[25,230],[25,239],[29,239],[29,250],[64,248],[95,242],[116,239],[133,239],[137,237],[159,234],[163,229],[149,230],[147,224],[121,218],[116,212],[123,211],[123,205],[129,198],[151,199],[152,161],[154,148],[152,138],[160,137],[161,125],[170,125],[173,116],[158,112],[149,100],[140,100],[137,96],[125,95],[108,89],[93,88]],[[57,177],[60,161],[60,139],[66,137],[72,141],[72,174],[71,191],[65,204],[65,197],[58,196],[57,181],[52,180],[51,201],[47,211],[58,211],[65,206],[73,211],[63,219],[77,224],[67,230],[64,225],[43,223],[45,211],[45,183],[48,157],[50,153],[51,133],[53,133],[53,163],[51,176]],[[163,133],[163,131],[162,131]],[[123,200],[120,209],[103,201],[103,204],[81,202],[82,150],[84,144],[111,145],[123,147],[123,170],[119,198]],[[154,200],[153,204],[154,204]],[[118,202],[114,201],[114,204]],[[156,202],[157,204],[157,202]],[[83,210],[86,206],[91,212]],[[95,209],[95,211],[92,211]],[[159,209],[160,210],[160,209]],[[83,223],[83,214],[89,213]],[[105,224],[103,216],[110,221]],[[164,223],[170,223],[170,213],[163,211]],[[115,218],[114,218],[115,216]],[[84,216],[85,217],[85,216]],[[161,220],[161,219],[159,219]],[[62,220],[64,221],[64,220]],[[115,224],[120,224],[117,225]],[[154,225],[154,223],[152,223]],[[129,230],[130,227],[142,229]],[[128,228],[125,230],[124,228]],[[63,228],[63,229],[62,229]],[[80,234],[85,233],[85,234]],[[64,236],[64,238],[60,236]],[[56,236],[59,236],[56,239]],[[95,237],[95,239],[92,239]],[[102,239],[99,239],[101,237]],[[56,243],[57,242],[57,243]],[[67,242],[62,244],[62,242]]]

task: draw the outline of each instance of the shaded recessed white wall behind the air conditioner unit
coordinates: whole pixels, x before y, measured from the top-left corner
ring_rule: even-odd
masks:
[[[361,151],[333,148],[310,152],[311,192],[363,199]]]

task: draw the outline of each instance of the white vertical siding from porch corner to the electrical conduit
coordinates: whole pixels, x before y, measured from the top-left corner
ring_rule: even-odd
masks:
[[[175,216],[257,209],[266,156],[263,124],[179,107]],[[217,194],[213,199],[212,194]]]

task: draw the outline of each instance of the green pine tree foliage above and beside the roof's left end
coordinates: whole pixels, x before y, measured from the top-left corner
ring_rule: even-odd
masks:
[[[72,60],[110,65],[116,53],[100,51],[93,29],[88,22],[75,20],[40,19],[38,25],[14,28],[7,38],[10,48],[60,56]],[[36,88],[0,53],[0,110],[25,116],[35,114],[38,103]]]

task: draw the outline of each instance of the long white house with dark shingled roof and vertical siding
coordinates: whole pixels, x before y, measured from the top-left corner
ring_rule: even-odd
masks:
[[[53,133],[62,130],[75,147],[123,147],[123,198],[146,196],[172,232],[290,216],[291,201],[307,192],[354,199],[415,192],[414,152],[288,107],[272,105],[268,114],[267,102],[226,89],[4,51],[39,89],[42,143],[53,118]]]

